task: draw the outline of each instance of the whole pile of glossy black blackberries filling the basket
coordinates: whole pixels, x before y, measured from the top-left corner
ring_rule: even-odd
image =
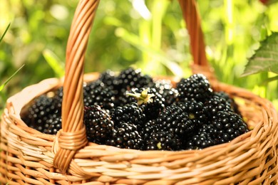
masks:
[[[84,83],[88,141],[124,149],[204,149],[249,131],[236,102],[212,90],[205,75],[154,80],[141,70],[106,70]],[[46,134],[61,129],[63,87],[37,97],[22,119]]]

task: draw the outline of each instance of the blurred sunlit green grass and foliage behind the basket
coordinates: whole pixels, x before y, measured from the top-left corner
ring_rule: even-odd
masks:
[[[0,84],[24,68],[0,92],[0,110],[6,98],[22,88],[63,75],[77,2],[1,0],[0,36],[11,26],[0,43]],[[278,3],[202,0],[197,4],[207,58],[219,80],[252,90],[278,107],[278,81],[263,83],[274,74],[240,76],[259,41],[278,31]],[[143,0],[103,0],[88,43],[86,73],[133,65],[150,75],[188,77],[192,58],[185,27],[175,0],[145,0],[145,4]]]

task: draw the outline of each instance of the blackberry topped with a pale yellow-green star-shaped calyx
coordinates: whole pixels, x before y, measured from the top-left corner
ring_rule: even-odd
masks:
[[[133,88],[132,92],[133,93],[127,93],[127,95],[137,98],[138,105],[142,107],[147,120],[153,120],[158,117],[159,112],[165,107],[165,99],[155,88]]]

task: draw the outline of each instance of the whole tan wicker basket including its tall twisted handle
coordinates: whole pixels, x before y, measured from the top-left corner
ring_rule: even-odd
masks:
[[[252,131],[202,150],[138,151],[88,142],[83,126],[83,61],[99,0],[80,1],[66,52],[66,76],[31,85],[6,102],[1,116],[2,184],[277,184],[277,112],[268,100],[214,78],[205,58],[194,0],[180,0],[190,33],[194,73],[240,103]],[[62,128],[42,134],[21,120],[35,97],[63,85]],[[74,89],[74,90],[73,90]]]

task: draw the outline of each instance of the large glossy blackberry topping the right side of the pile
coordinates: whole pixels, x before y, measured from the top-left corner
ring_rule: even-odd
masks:
[[[197,102],[205,102],[212,95],[210,82],[205,75],[194,74],[189,78],[182,78],[177,83],[177,100],[187,101],[196,100]]]

